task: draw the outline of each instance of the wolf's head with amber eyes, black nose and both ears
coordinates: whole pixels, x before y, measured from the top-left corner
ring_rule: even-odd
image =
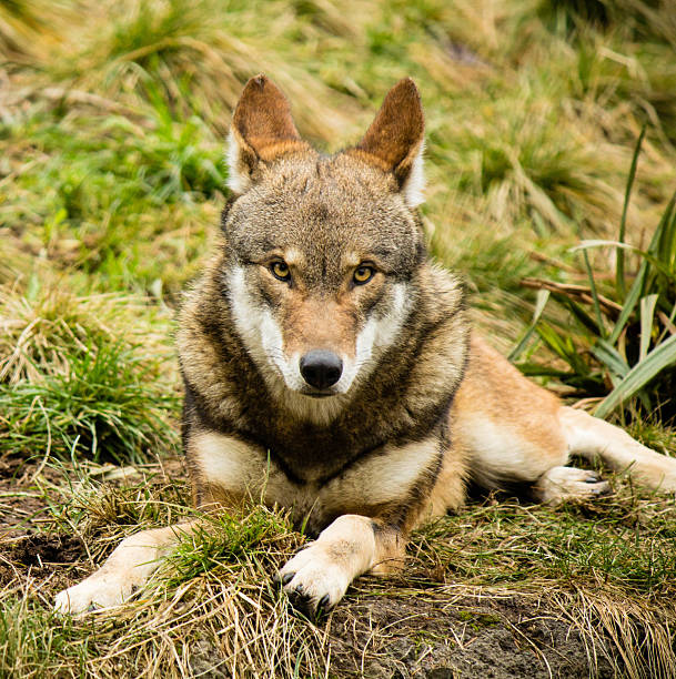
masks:
[[[393,348],[425,259],[423,112],[402,80],[362,141],[323,156],[265,77],[246,83],[230,135],[234,197],[222,284],[272,394],[330,420]]]

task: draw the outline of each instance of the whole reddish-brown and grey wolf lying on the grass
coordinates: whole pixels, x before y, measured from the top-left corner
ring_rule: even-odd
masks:
[[[571,455],[676,490],[676,459],[563,405],[471,332],[463,286],[426,254],[423,111],[412,80],[354,148],[304,142],[280,90],[249,81],[230,136],[223,239],[178,336],[195,506],[250,497],[316,536],[278,574],[309,615],[401,567],[410,531],[468,480],[546,503],[608,491]],[[123,601],[199,519],[131,536],[60,611]]]

